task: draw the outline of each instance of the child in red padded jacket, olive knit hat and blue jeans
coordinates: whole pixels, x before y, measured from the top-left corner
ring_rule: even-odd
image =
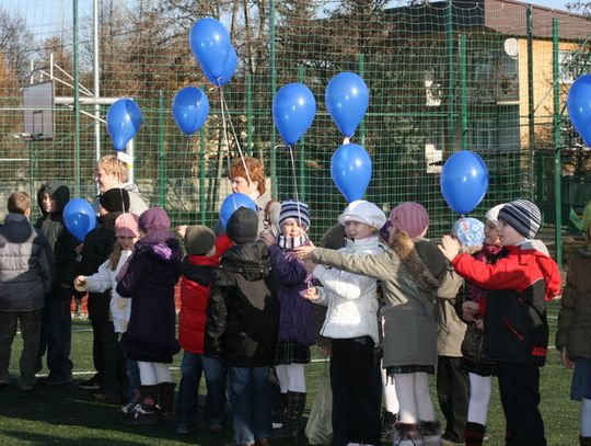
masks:
[[[225,367],[217,358],[204,355],[207,306],[213,272],[219,265],[216,235],[205,226],[188,226],[185,236],[187,255],[181,264],[181,312],[178,341],[184,351],[181,384],[176,400],[176,433],[194,431],[201,373],[207,382],[205,414],[208,431],[219,434],[225,423]]]

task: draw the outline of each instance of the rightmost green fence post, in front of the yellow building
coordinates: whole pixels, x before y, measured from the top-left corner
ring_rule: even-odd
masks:
[[[558,19],[552,19],[552,78],[554,85],[554,203],[556,213],[556,226],[554,228],[554,241],[556,243],[556,263],[563,265],[563,195],[561,195],[561,169],[560,159],[560,66],[558,62]]]

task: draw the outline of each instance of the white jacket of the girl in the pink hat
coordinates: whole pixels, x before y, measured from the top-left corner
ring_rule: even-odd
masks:
[[[132,251],[121,251],[115,270],[111,268],[111,259],[99,266],[99,272],[86,277],[86,289],[91,293],[105,293],[111,289],[109,316],[116,333],[124,333],[131,315],[131,301],[117,293],[117,274],[129,259]]]

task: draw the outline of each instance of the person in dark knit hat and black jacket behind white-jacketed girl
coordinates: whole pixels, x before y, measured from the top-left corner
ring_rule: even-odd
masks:
[[[86,235],[77,275],[90,276],[99,271],[115,245],[115,220],[129,207],[129,195],[112,188],[100,196],[97,226]],[[89,293],[89,319],[92,323],[92,358],[96,374],[80,388],[101,390],[96,399],[118,403],[126,391],[125,359],[118,336],[109,318],[111,290]]]

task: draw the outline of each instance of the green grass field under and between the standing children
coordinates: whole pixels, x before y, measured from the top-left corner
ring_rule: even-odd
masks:
[[[556,315],[559,305],[549,305],[554,344]],[[174,425],[126,426],[118,420],[116,407],[94,402],[92,392],[78,389],[77,381],[92,374],[92,331],[88,321],[77,320],[72,334],[74,382],[67,386],[37,386],[22,392],[15,385],[0,391],[0,445],[202,445],[218,446],[232,439],[231,427],[220,436],[211,436],[202,428],[186,436],[174,432]],[[21,343],[15,340],[11,373],[18,374]],[[179,379],[176,355],[173,377]],[[312,363],[308,368],[309,399],[306,412],[313,402],[315,388],[324,374],[325,364]],[[45,370],[44,370],[45,371]],[[42,371],[43,373],[43,371]],[[542,369],[542,413],[549,446],[578,444],[579,403],[569,400],[571,371],[560,363],[555,348],[551,348],[547,365]],[[434,382],[434,377],[431,378]],[[202,389],[201,389],[202,392]],[[433,394],[437,407],[437,398]],[[440,418],[441,419],[441,418]],[[503,445],[505,420],[498,391],[494,386],[488,433],[489,446]],[[535,446],[535,445],[532,445]]]

